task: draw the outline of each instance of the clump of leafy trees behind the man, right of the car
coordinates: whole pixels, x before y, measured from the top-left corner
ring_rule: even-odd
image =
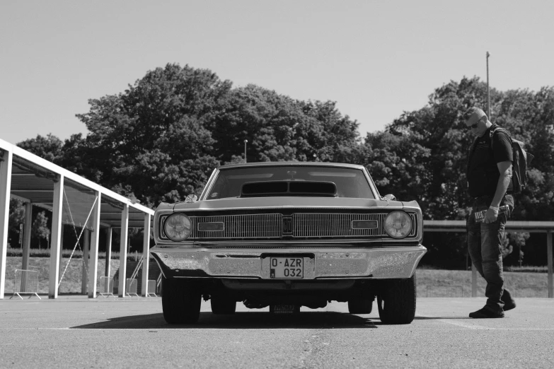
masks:
[[[515,196],[512,220],[552,220],[554,129],[550,127],[554,127],[554,89],[542,88],[533,93],[529,90],[500,92],[493,88],[490,96],[490,120],[506,127],[514,139],[525,142],[526,150],[537,154],[528,172],[529,187]],[[460,82],[450,81],[435,89],[425,107],[404,112],[386,127],[388,134],[406,138],[402,144],[393,144],[385,134],[368,135],[364,155],[367,160],[373,160],[369,166],[371,172],[376,173],[381,185],[403,194],[402,198],[418,199],[425,218],[465,219],[470,210],[466,158],[473,137],[467,133],[461,115],[468,107],[485,107],[485,101],[486,85],[477,77],[464,77]],[[384,147],[379,146],[381,141],[386,141]],[[401,153],[401,148],[408,148],[408,155]],[[417,168],[415,173],[423,176],[423,180],[418,182],[407,177],[405,167],[395,172],[401,160]],[[396,188],[389,182],[391,178],[400,178]],[[412,182],[414,185],[410,185]],[[448,235],[426,235],[424,241],[429,250],[441,250],[444,245],[458,245],[455,246],[460,248],[458,254],[465,250],[463,237],[459,236],[461,242],[447,238]],[[529,241],[532,239],[533,235]],[[506,242],[505,253],[509,254],[511,241]],[[514,245],[523,246],[525,242],[522,238]]]

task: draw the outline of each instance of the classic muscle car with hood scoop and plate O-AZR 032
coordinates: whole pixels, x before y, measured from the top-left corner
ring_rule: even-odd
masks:
[[[162,277],[163,317],[194,323],[236,303],[270,312],[336,300],[384,323],[415,315],[422,212],[381,197],[366,168],[338,163],[244,163],[212,172],[200,198],[162,203],[150,252]]]

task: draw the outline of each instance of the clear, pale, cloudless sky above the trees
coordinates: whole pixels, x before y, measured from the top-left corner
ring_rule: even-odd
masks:
[[[0,139],[88,133],[88,99],[168,63],[332,100],[362,137],[463,76],[554,85],[554,1],[0,1]]]

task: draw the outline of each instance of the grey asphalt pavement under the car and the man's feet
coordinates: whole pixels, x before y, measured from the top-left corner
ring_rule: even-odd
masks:
[[[346,303],[294,316],[248,310],[169,325],[161,298],[0,300],[0,368],[554,368],[554,299],[520,298],[473,320],[484,298],[419,298],[412,324],[350,315]]]

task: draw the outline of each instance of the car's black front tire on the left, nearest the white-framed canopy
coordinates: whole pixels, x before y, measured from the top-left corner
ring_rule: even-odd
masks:
[[[161,306],[168,324],[197,322],[201,299],[192,281],[161,277]]]

